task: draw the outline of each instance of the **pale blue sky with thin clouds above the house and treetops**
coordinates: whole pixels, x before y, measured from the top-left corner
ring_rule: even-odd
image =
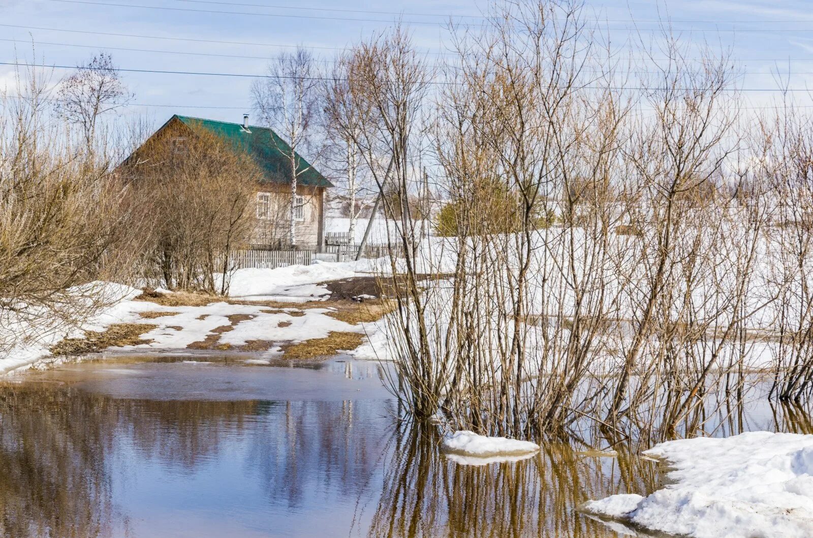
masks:
[[[461,20],[476,23],[469,17],[480,15],[484,5],[467,0],[0,0],[0,62],[31,62],[35,41],[37,63],[49,65],[76,65],[107,50],[120,67],[132,69],[259,74],[268,58],[291,46],[314,47],[314,53],[329,62],[337,50],[380,32],[398,17],[379,11],[423,23],[410,25],[415,42],[437,52],[442,50],[448,15],[468,15]],[[684,39],[699,42],[705,37],[713,47],[733,47],[737,66],[745,73],[743,87],[776,88],[770,72],[780,63],[783,70],[790,66],[794,72],[791,86],[806,89],[813,88],[813,75],[808,74],[813,73],[811,7],[811,2],[798,0],[603,0],[586,2],[586,13],[608,20],[606,26],[615,28],[613,41],[620,43],[629,35],[629,20],[641,21],[639,28],[654,28],[656,24],[642,21],[657,20],[668,11],[672,20],[686,21],[673,24]],[[0,65],[0,89],[13,80],[12,72],[13,67]],[[54,73],[61,76],[64,71]],[[250,104],[250,78],[154,73],[124,73],[124,78],[137,103],[165,105],[133,106],[127,113],[156,120],[180,113],[239,121]],[[805,104],[813,102],[806,93],[796,96]],[[746,106],[760,106],[773,97],[774,92],[748,92]]]

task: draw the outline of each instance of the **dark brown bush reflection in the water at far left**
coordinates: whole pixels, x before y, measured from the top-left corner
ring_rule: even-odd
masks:
[[[110,407],[71,395],[0,392],[0,536],[111,535]]]

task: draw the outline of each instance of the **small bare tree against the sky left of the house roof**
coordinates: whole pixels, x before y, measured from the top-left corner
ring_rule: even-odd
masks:
[[[96,141],[102,115],[126,106],[133,99],[110,54],[99,53],[76,72],[62,80],[57,93],[56,111],[69,124],[80,128],[85,146]]]

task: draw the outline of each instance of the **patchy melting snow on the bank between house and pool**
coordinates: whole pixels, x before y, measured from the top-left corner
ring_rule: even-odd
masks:
[[[319,262],[310,266],[280,267],[278,269],[241,269],[233,276],[230,298],[241,301],[274,301],[291,303],[291,308],[268,308],[259,305],[230,304],[213,298],[206,306],[162,306],[155,302],[134,301],[140,289],[121,284],[103,283],[104,293],[111,297],[112,305],[98,313],[80,328],[71,330],[37,330],[26,334],[22,323],[10,324],[0,331],[13,332],[15,347],[0,357],[0,374],[31,367],[50,356],[50,347],[65,338],[81,338],[85,331],[103,332],[115,323],[145,323],[156,327],[141,335],[149,343],[112,348],[120,352],[180,352],[188,345],[216,335],[220,345],[239,349],[252,341],[297,343],[324,338],[330,332],[359,332],[377,334],[375,323],[351,325],[328,314],[333,309],[299,309],[296,303],[323,301],[330,295],[322,282],[354,276],[369,276],[380,261]],[[383,267],[383,264],[381,264]],[[165,291],[165,290],[163,290]],[[169,292],[167,292],[169,293]],[[150,313],[165,313],[155,317]],[[231,318],[230,318],[231,316]],[[238,323],[232,319],[237,316]],[[227,332],[215,329],[232,325]],[[2,334],[0,334],[2,337]],[[380,336],[378,336],[380,338]],[[259,353],[262,361],[280,355],[275,345]],[[372,349],[360,349],[359,358],[375,358]]]

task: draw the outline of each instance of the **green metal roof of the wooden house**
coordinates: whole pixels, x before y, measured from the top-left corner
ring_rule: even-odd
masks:
[[[250,125],[246,130],[242,124],[230,124],[224,121],[190,118],[181,115],[173,115],[167,121],[167,124],[176,118],[189,128],[205,128],[217,137],[232,144],[237,150],[246,151],[263,169],[266,182],[290,184],[290,162],[285,155],[289,154],[291,146],[272,129]],[[297,156],[299,158],[298,170],[302,172],[298,174],[298,184],[313,187],[333,187],[333,184],[312,167],[311,163],[308,163],[301,155],[297,154]]]

